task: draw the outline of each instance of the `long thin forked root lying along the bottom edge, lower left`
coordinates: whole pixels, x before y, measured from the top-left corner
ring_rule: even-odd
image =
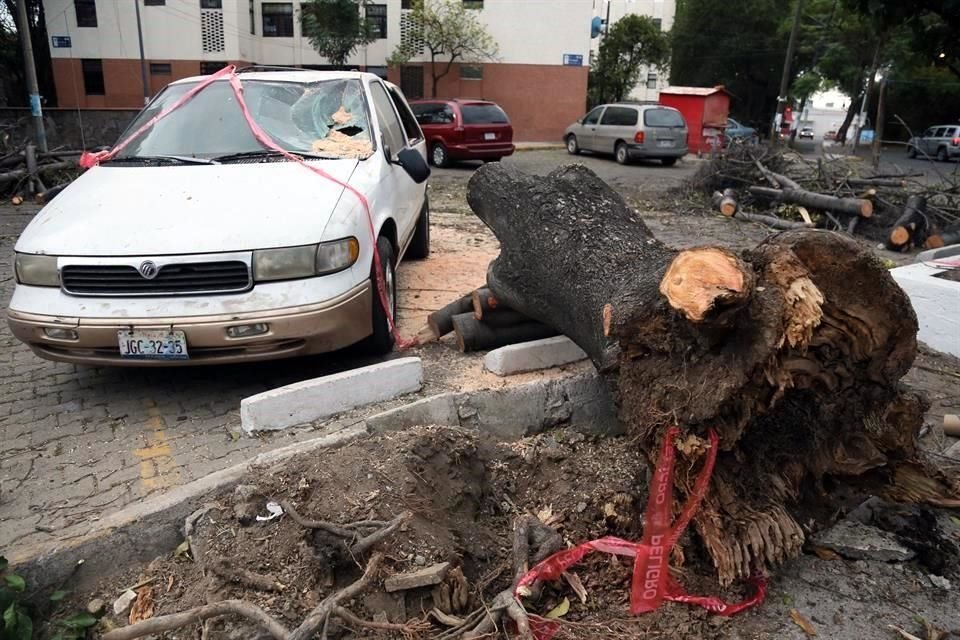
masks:
[[[384,623],[370,622],[362,620],[353,615],[347,609],[341,606],[341,603],[355,598],[370,586],[370,582],[380,570],[380,564],[383,561],[383,554],[375,553],[370,557],[367,568],[363,575],[355,582],[347,585],[343,589],[330,594],[317,605],[317,607],[304,618],[293,631],[288,631],[286,627],[277,622],[260,607],[244,602],[242,600],[224,600],[208,604],[203,607],[196,607],[189,611],[174,613],[166,616],[158,616],[149,620],[144,620],[128,627],[114,629],[103,635],[103,640],[134,640],[148,635],[163,633],[180,629],[190,624],[202,622],[209,618],[218,616],[232,615],[242,617],[256,623],[262,629],[267,631],[276,640],[308,640],[323,629],[322,637],[326,637],[326,630],[329,627],[330,618],[340,618],[347,624],[363,626],[372,629],[386,629],[382,626]],[[420,626],[413,625],[390,625],[390,630],[400,631],[404,635],[414,635]]]

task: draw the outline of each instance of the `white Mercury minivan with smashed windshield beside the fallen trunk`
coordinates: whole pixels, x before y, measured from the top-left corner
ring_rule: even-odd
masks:
[[[366,73],[239,77],[252,119],[339,182],[265,149],[229,80],[214,80],[20,236],[7,318],[39,356],[162,365],[391,349],[375,282],[392,313],[397,264],[430,250],[430,169],[406,100]],[[202,80],[167,86],[121,140]]]

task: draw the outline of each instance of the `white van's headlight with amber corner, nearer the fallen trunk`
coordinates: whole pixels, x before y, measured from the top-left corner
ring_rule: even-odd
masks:
[[[294,280],[342,271],[357,261],[360,243],[356,238],[284,249],[253,252],[253,279]]]

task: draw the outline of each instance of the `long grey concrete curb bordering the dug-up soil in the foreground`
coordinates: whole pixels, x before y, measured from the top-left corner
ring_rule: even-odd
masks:
[[[190,513],[209,500],[210,494],[243,482],[257,467],[276,466],[295,455],[340,447],[370,433],[422,424],[482,430],[505,440],[561,424],[587,427],[604,435],[621,433],[612,396],[595,371],[502,389],[444,393],[374,414],[312,440],[262,453],[121,509],[70,540],[14,548],[8,559],[36,592],[61,588],[68,580],[75,588],[83,584],[85,575],[116,571],[118,558],[124,563],[148,562],[169,553],[182,541],[183,521]],[[80,561],[83,569],[78,572]]]

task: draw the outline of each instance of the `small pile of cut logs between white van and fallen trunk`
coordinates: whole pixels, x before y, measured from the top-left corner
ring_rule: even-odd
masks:
[[[421,342],[438,340],[453,332],[462,353],[558,335],[550,325],[501,304],[486,286],[431,313],[427,327],[420,333]]]

